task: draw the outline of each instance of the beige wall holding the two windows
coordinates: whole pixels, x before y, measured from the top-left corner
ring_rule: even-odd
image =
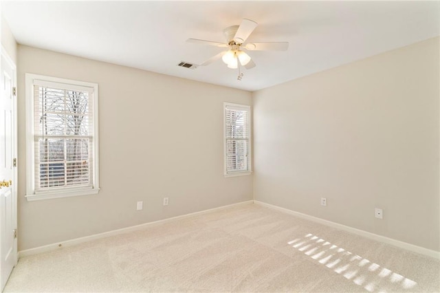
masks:
[[[250,92],[23,45],[18,60],[19,250],[252,199],[252,176],[223,177],[223,102]],[[99,84],[98,195],[26,201],[25,73]]]

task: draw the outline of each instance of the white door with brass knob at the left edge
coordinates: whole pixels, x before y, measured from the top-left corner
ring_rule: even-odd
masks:
[[[0,61],[0,291],[17,264],[17,124],[15,65],[1,48]]]

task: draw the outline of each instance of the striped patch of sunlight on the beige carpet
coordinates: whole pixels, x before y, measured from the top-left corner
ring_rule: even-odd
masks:
[[[369,292],[414,290],[417,286],[417,282],[401,274],[381,268],[377,263],[372,263],[358,254],[353,254],[312,234],[294,239],[287,244]]]

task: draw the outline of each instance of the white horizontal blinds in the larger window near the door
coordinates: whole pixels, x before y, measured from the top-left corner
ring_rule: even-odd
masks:
[[[35,191],[92,187],[93,88],[34,83]]]

